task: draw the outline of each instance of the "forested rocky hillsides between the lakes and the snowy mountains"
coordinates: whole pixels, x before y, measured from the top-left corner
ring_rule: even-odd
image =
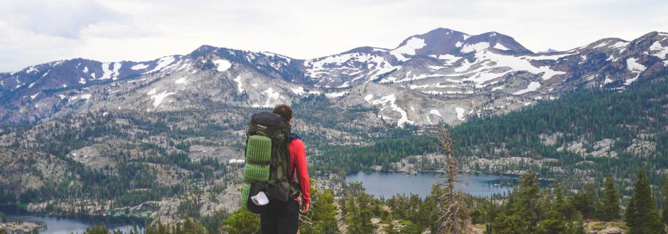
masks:
[[[511,156],[557,159],[505,167],[535,171],[571,188],[582,181],[602,184],[606,176],[627,188],[639,169],[660,186],[659,174],[668,168],[666,75],[637,80],[624,92],[583,88],[506,115],[469,119],[451,129],[458,141],[456,156],[501,164],[512,161]],[[295,129],[312,160],[310,171],[395,170],[402,161],[421,170],[438,169],[411,159],[435,152],[433,139],[421,127],[366,124],[365,116],[373,111],[368,107],[332,104],[322,95],[293,103],[299,113]],[[55,201],[46,208],[58,210],[58,203],[85,198],[112,201],[115,208],[108,213],[130,216],[139,213],[125,206],[183,194],[203,194],[206,202],[221,203],[226,196],[217,195],[238,184],[229,172],[239,167],[225,164],[230,156],[242,155],[234,150],[245,138],[235,132],[259,111],[212,102],[205,110],[87,112],[4,127],[0,154],[9,156],[0,157],[0,203]],[[488,166],[473,169],[485,172]],[[176,202],[178,213],[192,216],[207,207],[195,198]],[[75,209],[82,211],[85,205]]]

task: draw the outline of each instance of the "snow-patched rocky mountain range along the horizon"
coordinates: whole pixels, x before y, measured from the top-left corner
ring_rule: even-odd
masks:
[[[668,33],[658,32],[549,53],[497,32],[446,28],[393,49],[364,46],[310,60],[200,46],[150,61],[75,58],[0,73],[0,123],[92,111],[263,108],[322,95],[343,109],[362,107],[368,122],[459,124],[583,88],[622,91],[667,72]]]

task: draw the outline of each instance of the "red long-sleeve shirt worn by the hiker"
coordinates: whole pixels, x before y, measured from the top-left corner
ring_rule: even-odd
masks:
[[[290,158],[292,161],[291,171],[295,171],[292,175],[292,181],[295,180],[295,176],[299,181],[299,186],[301,187],[301,202],[302,203],[311,203],[311,184],[308,181],[308,170],[306,169],[306,149],[304,149],[304,142],[301,139],[293,139],[288,144],[288,150],[290,151]],[[295,198],[297,201],[297,198]]]

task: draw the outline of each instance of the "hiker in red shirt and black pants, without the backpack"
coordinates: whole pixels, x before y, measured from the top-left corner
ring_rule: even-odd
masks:
[[[292,109],[287,105],[278,105],[274,108],[274,114],[280,115],[288,124],[292,125]],[[299,213],[306,214],[311,208],[311,185],[308,181],[308,171],[306,169],[306,151],[304,143],[296,134],[290,134],[288,151],[291,165],[289,171],[290,181],[299,181],[299,190],[301,191],[301,209],[298,198],[289,199],[286,203],[271,202],[264,212],[260,214],[260,224],[263,234],[294,234],[298,230]],[[300,212],[301,210],[301,212]]]

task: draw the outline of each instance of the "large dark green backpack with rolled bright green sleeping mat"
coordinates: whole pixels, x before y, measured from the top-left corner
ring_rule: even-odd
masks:
[[[253,115],[246,130],[246,163],[242,185],[241,208],[261,213],[250,197],[264,191],[269,203],[287,202],[299,195],[296,183],[291,182],[292,161],[288,151],[291,127],[286,119],[271,112]]]

